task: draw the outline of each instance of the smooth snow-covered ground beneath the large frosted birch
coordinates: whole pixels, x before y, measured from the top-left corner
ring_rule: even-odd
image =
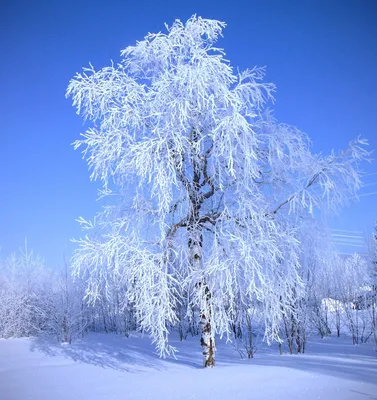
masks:
[[[72,345],[0,340],[1,400],[377,400],[377,353],[349,338],[313,340],[305,355],[263,347],[241,360],[218,344],[217,366],[201,368],[197,338],[176,341],[161,360],[147,338],[92,334]]]

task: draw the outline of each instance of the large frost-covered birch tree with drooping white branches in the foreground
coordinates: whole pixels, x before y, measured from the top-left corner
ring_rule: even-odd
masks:
[[[256,302],[265,340],[281,340],[281,311],[302,289],[300,218],[354,196],[368,156],[360,139],[312,154],[305,134],[277,123],[264,69],[237,72],[215,47],[224,27],[177,20],[123,50],[119,64],[77,73],[67,90],[91,122],[75,148],[109,199],[81,220],[91,231],[74,272],[94,300],[117,280],[161,355],[174,352],[169,329],[186,304],[205,366],[215,334],[232,337]]]

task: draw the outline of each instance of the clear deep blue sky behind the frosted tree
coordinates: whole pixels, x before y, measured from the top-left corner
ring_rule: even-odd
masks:
[[[307,132],[316,151],[342,148],[358,134],[377,149],[377,1],[2,0],[3,254],[27,237],[49,264],[60,263],[73,249],[69,239],[81,234],[75,218],[99,209],[96,184],[70,146],[83,127],[64,97],[69,79],[88,62],[98,68],[119,60],[147,32],[194,13],[227,22],[220,46],[233,66],[267,66],[278,87],[276,116]],[[377,173],[377,163],[366,172]],[[362,194],[377,192],[377,174],[365,182]],[[360,200],[331,227],[371,232],[377,194]]]

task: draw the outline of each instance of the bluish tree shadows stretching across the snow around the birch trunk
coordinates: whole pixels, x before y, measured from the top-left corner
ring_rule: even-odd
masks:
[[[377,353],[369,344],[354,346],[349,338],[312,340],[306,354],[280,356],[277,346],[262,345],[255,358],[240,359],[232,345],[218,341],[217,368],[228,366],[248,366],[252,380],[255,368],[281,367],[305,372],[324,374],[366,383],[376,383]],[[51,337],[33,338],[31,351],[48,356],[64,356],[74,362],[111,368],[118,371],[137,373],[151,369],[166,370],[172,364],[178,368],[202,368],[202,355],[198,338],[180,342],[172,339],[171,344],[178,349],[177,359],[159,358],[147,337],[132,335],[125,338],[112,334],[90,334],[71,345],[58,344]],[[377,400],[377,397],[374,398]]]

